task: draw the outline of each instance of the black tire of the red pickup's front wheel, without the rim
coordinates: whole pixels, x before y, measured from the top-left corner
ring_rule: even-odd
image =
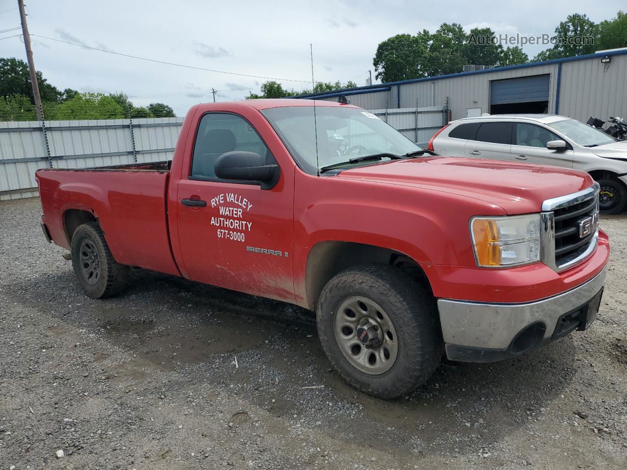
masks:
[[[336,340],[337,310],[353,296],[380,305],[396,330],[398,353],[386,372],[362,372],[347,360]],[[369,264],[334,276],[320,295],[317,324],[322,348],[335,370],[352,387],[374,397],[403,397],[426,382],[440,365],[442,335],[435,299],[398,268]]]

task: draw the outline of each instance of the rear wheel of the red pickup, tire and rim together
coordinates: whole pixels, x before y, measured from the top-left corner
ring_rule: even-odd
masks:
[[[72,266],[78,283],[94,299],[112,297],[124,290],[129,266],[113,259],[96,222],[79,226],[71,241]]]

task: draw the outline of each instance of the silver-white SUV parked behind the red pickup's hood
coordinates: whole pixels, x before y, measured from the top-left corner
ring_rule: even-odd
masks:
[[[601,185],[601,212],[618,214],[627,205],[627,141],[571,118],[548,114],[463,118],[431,137],[429,150],[583,170]]]

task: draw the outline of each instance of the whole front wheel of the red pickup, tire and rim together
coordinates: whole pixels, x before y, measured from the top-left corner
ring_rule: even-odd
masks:
[[[403,397],[440,364],[433,296],[398,268],[371,264],[337,274],[322,290],[317,323],[335,370],[366,394]]]

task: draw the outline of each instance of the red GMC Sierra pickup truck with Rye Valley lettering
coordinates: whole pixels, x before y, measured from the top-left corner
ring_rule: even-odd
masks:
[[[194,106],[171,162],[36,174],[87,295],[129,266],[297,304],[350,384],[408,394],[597,315],[608,237],[576,170],[429,154],[345,103]]]

